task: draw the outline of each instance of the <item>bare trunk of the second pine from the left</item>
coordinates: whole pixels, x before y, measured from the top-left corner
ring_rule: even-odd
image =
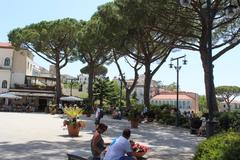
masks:
[[[94,81],[94,64],[89,64],[89,77],[88,77],[88,99],[89,105],[93,107],[93,81]]]

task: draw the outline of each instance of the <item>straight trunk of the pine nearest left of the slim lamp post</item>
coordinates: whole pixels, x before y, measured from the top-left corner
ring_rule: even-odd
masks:
[[[151,86],[151,70],[150,64],[145,64],[145,80],[144,80],[144,105],[150,107],[150,86]]]

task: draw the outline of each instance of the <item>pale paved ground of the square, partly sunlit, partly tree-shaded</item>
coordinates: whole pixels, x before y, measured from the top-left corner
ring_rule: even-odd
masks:
[[[94,117],[83,115],[81,119],[87,127],[79,137],[71,138],[62,125],[63,115],[0,112],[0,160],[66,160],[69,151],[90,152]],[[102,122],[109,126],[103,136],[107,142],[130,127],[127,120],[108,116]],[[142,123],[138,129],[132,129],[131,139],[150,147],[145,155],[148,160],[190,160],[204,138],[181,128]]]

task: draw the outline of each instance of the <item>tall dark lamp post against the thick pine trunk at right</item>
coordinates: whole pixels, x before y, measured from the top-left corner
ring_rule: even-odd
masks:
[[[212,0],[206,0],[205,2],[202,2],[203,5],[201,6],[202,9],[199,10],[200,14],[202,15],[202,18],[205,18],[207,21],[207,52],[208,52],[208,72],[212,73],[213,66],[212,66],[212,29],[213,29],[213,20],[215,17],[214,13],[216,12],[216,8],[211,7]],[[192,2],[195,2],[194,0],[180,0],[180,4],[183,7],[189,7]],[[200,2],[200,1],[199,1]],[[239,12],[239,7],[232,4],[232,0],[226,1],[228,3],[228,6],[224,8],[225,15],[227,18],[233,17],[237,12]],[[240,0],[237,0],[238,6],[240,6]],[[203,9],[204,8],[204,9]],[[203,13],[202,13],[203,12]],[[208,77],[208,81],[211,81],[212,77]],[[212,100],[213,95],[213,86],[209,86],[209,93],[208,93],[208,112],[209,112],[209,121],[208,121],[208,127],[207,127],[207,136],[210,137],[214,134],[214,126],[213,126],[213,112],[214,112],[214,101]]]

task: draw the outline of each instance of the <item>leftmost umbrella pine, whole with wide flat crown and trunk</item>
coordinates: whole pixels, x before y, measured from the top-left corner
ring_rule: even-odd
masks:
[[[8,34],[9,41],[16,49],[28,49],[55,66],[57,104],[62,94],[60,70],[73,60],[81,26],[77,20],[65,18],[41,21],[14,29]]]

